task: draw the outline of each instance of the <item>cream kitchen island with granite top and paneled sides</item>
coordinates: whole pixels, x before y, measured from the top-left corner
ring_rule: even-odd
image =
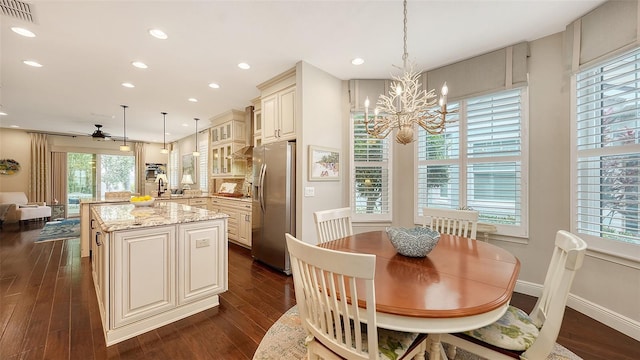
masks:
[[[107,346],[219,305],[228,288],[227,218],[175,202],[91,207]]]

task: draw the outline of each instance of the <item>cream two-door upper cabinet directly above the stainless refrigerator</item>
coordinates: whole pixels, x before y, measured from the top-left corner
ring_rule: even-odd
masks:
[[[262,144],[296,138],[296,71],[258,85],[261,91]]]

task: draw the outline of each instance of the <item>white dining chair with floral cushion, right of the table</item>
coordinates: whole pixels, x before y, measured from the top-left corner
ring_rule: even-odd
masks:
[[[586,250],[584,240],[570,232],[558,231],[542,295],[530,314],[509,306],[505,315],[493,324],[460,334],[445,334],[440,340],[492,360],[546,359],[558,338],[569,289]],[[510,336],[503,335],[506,333]]]

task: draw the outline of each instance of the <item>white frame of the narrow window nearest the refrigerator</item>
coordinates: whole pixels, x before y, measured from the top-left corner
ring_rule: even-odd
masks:
[[[356,204],[355,204],[355,198],[356,198],[356,191],[355,191],[355,184],[356,184],[356,166],[360,163],[355,161],[355,144],[354,144],[354,139],[355,139],[355,135],[354,135],[354,131],[355,131],[355,126],[354,126],[354,114],[363,114],[363,112],[351,112],[350,116],[349,116],[349,147],[350,147],[350,154],[351,154],[351,169],[349,171],[349,203],[351,206],[351,209],[353,209],[352,211],[352,221],[354,222],[391,222],[393,219],[393,136],[387,136],[385,139],[383,139],[383,141],[387,141],[389,142],[387,144],[387,149],[388,149],[388,153],[387,153],[387,161],[386,162],[379,162],[379,163],[373,163],[373,162],[367,162],[367,163],[362,163],[367,164],[367,165],[372,165],[372,166],[376,166],[379,165],[383,168],[386,168],[387,170],[387,194],[388,194],[388,211],[386,213],[381,213],[381,214],[362,214],[362,213],[356,213]],[[382,139],[381,139],[382,140]]]

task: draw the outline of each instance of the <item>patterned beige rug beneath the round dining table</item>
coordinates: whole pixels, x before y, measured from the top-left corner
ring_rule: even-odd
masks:
[[[287,310],[278,321],[267,330],[258,349],[253,355],[254,360],[276,359],[306,359],[307,349],[304,345],[305,332],[302,328],[300,315],[296,306]],[[444,344],[447,346],[447,344]],[[428,357],[427,357],[428,359]],[[454,360],[481,360],[477,355],[470,354],[458,348]],[[581,360],[579,356],[556,344],[547,360]]]

